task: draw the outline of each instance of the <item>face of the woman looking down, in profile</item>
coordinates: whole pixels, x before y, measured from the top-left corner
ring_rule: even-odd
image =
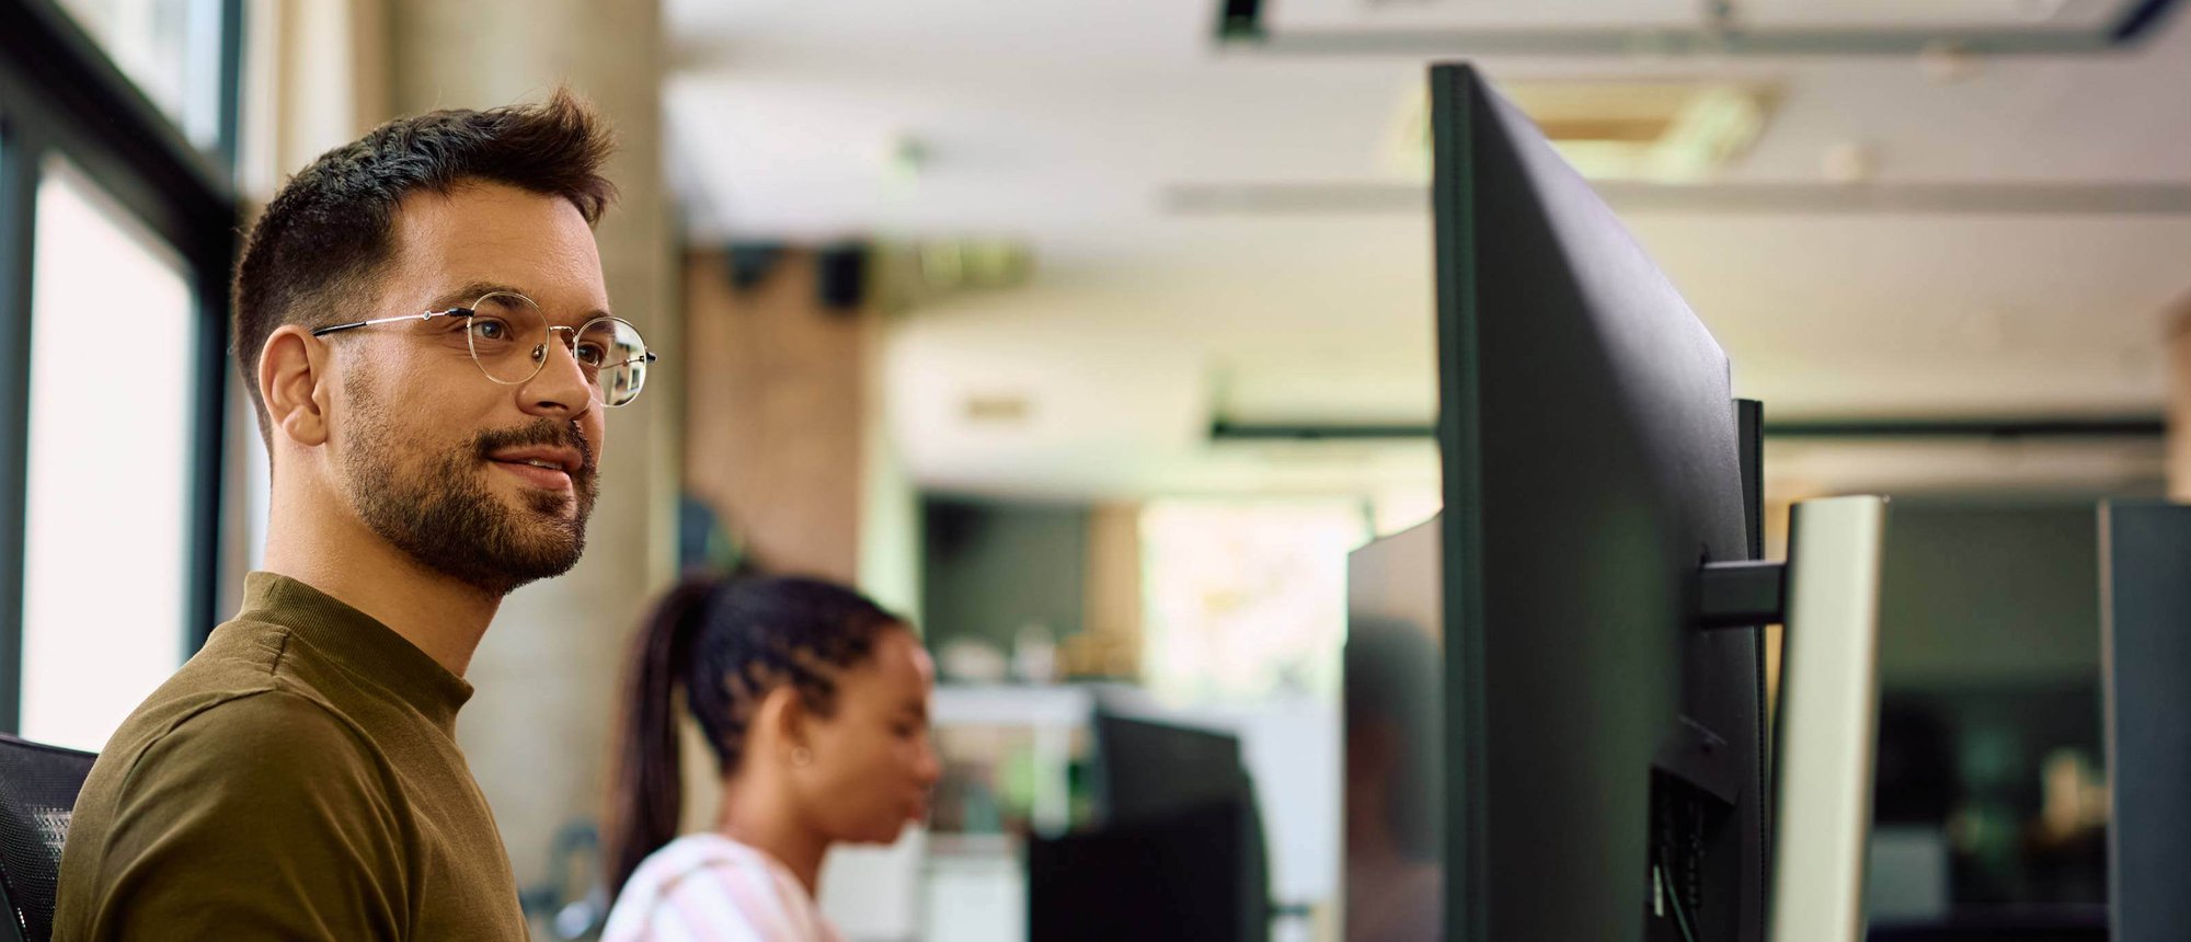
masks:
[[[909,629],[885,629],[837,675],[837,708],[813,716],[813,762],[793,771],[806,815],[833,841],[890,843],[929,815],[940,767],[929,743],[936,666]]]

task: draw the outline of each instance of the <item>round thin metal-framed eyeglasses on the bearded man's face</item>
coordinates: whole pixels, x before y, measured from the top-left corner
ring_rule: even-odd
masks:
[[[449,329],[440,333],[445,344],[462,344],[471,361],[486,379],[502,386],[526,383],[548,366],[548,342],[561,340],[570,359],[578,364],[592,397],[600,405],[627,405],[646,386],[646,366],[653,353],[640,329],[622,318],[594,318],[578,326],[548,324],[541,307],[517,291],[491,291],[469,307],[447,311],[408,313],[401,318],[359,320],[311,331],[324,337],[335,331],[355,331],[372,324],[394,324],[403,320],[432,322],[447,318]],[[557,335],[563,337],[557,337]]]

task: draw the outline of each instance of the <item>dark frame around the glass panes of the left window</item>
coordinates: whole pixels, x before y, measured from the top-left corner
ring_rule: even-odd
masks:
[[[55,0],[0,0],[0,732],[22,721],[24,524],[31,434],[31,272],[37,188],[59,156],[182,259],[193,280],[191,467],[182,655],[219,618],[228,291],[239,248],[234,156],[243,0],[221,0],[219,134],[182,134]],[[118,574],[127,578],[127,574]]]

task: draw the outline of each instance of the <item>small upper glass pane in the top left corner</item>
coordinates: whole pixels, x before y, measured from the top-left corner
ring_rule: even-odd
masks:
[[[219,145],[221,0],[61,0],[193,145]]]

